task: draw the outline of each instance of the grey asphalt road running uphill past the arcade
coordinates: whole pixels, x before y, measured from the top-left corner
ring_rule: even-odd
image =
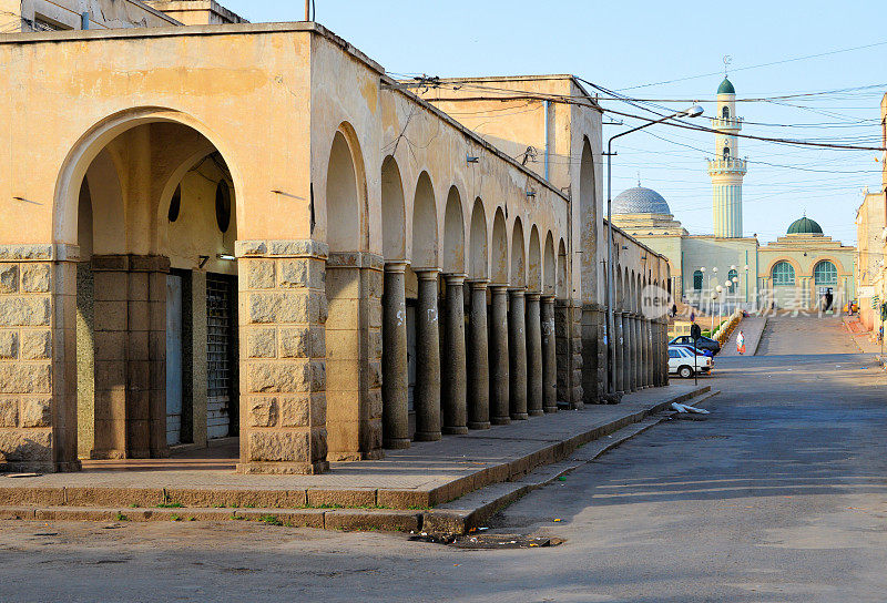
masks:
[[[560,546],[7,522],[0,601],[884,602],[887,378],[835,319],[764,337],[765,356],[717,361],[707,420],[660,425],[492,522]]]

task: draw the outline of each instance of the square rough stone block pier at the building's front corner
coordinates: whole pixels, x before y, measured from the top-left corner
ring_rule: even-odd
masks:
[[[326,244],[236,246],[244,473],[319,473],[326,430]]]

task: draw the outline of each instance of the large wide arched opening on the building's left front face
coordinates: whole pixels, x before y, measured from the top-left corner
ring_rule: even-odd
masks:
[[[75,149],[57,235],[75,229],[79,458],[166,457],[239,433],[235,177],[201,132],[120,119]],[[64,208],[77,191],[77,218]],[[234,459],[236,439],[214,444]],[[174,450],[173,454],[177,452]]]

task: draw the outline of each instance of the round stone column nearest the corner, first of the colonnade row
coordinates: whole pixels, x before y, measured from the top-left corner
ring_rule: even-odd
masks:
[[[406,262],[385,264],[381,297],[383,446],[409,448],[409,375],[407,374]]]

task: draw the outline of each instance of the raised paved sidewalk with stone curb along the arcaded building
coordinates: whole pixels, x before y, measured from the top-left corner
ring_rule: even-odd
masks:
[[[710,386],[677,381],[625,396],[615,406],[589,406],[438,442],[416,442],[408,450],[386,451],[379,461],[335,463],[322,476],[134,468],[0,477],[0,519],[113,520],[123,514],[133,521],[180,515],[225,520],[272,510],[298,525],[348,528],[356,522],[411,529],[421,524],[418,511],[520,479],[673,401],[710,390]]]

